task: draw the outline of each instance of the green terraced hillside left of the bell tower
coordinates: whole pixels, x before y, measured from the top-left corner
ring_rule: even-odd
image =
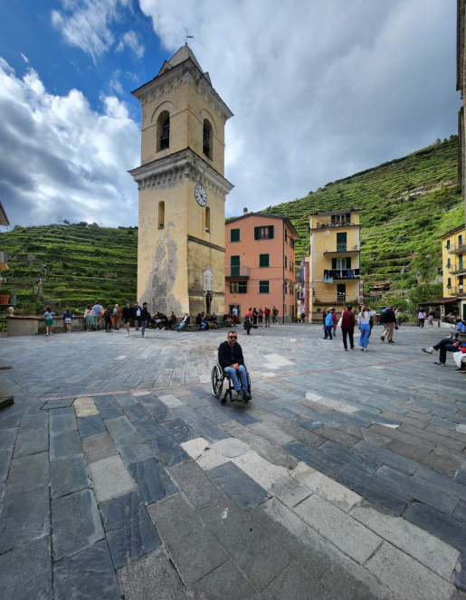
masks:
[[[94,300],[101,304],[135,300],[135,229],[97,224],[16,227],[2,233],[0,249],[10,255],[5,277],[7,288],[16,289],[16,314],[40,312],[45,303],[82,314]]]

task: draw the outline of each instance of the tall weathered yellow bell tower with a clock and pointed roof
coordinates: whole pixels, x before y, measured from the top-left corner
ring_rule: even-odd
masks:
[[[191,318],[224,310],[224,126],[233,113],[187,43],[131,92],[142,109],[138,301]]]

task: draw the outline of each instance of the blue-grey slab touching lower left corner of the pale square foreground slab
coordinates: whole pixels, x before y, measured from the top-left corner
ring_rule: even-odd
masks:
[[[92,490],[52,500],[52,529],[55,561],[105,538]]]

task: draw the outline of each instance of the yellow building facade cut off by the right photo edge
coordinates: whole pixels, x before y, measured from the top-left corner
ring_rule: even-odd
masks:
[[[452,312],[466,319],[466,232],[464,225],[442,233],[441,318]],[[443,308],[442,308],[443,307]]]

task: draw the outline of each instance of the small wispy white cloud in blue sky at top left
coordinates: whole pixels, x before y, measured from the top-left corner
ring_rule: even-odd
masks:
[[[131,0],[62,0],[63,10],[52,10],[52,24],[71,46],[88,52],[94,63],[114,42],[111,24]]]

